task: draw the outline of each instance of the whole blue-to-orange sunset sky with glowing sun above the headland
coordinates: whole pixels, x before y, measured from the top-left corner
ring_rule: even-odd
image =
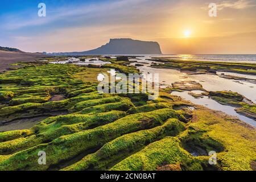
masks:
[[[166,54],[256,53],[256,1],[1,0],[0,32],[0,46],[27,52],[86,51],[132,38],[156,41]]]

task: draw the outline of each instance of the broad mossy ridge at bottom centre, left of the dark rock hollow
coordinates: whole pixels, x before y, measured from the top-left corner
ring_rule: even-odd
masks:
[[[122,160],[111,170],[114,171],[154,171],[163,164],[176,164],[191,160],[191,156],[180,147],[180,141],[175,137],[166,137],[149,144],[142,151]],[[202,169],[197,168],[197,169]]]

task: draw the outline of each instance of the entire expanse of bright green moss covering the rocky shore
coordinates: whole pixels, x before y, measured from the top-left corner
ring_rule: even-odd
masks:
[[[49,58],[65,59],[64,56]],[[0,104],[1,123],[55,111],[69,111],[69,114],[44,119],[30,130],[0,133],[0,170],[66,166],[68,170],[160,170],[174,169],[175,165],[183,170],[254,169],[255,131],[237,119],[171,96],[170,88],[160,90],[159,98],[152,101],[148,101],[148,94],[98,93],[98,73],[105,73],[109,68],[126,74],[138,73],[135,67],[125,65],[125,61],[110,61],[113,64],[105,68],[20,63],[20,69],[1,74],[0,92],[13,93]],[[254,67],[175,60],[165,63],[163,67],[193,67],[203,72]],[[237,111],[255,116],[255,105],[246,103],[240,94],[216,93],[211,97],[218,98],[218,102],[235,103]],[[48,102],[55,94],[67,99]],[[183,109],[187,106],[196,110]],[[208,163],[211,150],[217,152],[218,164],[214,167]],[[46,152],[47,165],[38,164],[39,151]],[[84,158],[77,162],[81,156]]]

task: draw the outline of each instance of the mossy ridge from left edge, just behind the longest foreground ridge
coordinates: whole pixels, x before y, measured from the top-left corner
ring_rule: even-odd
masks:
[[[114,122],[119,118],[125,117],[125,115],[126,113],[122,111],[110,111],[92,116],[70,114],[48,118],[32,127],[31,130],[28,130],[30,131],[29,137],[27,133],[24,133],[25,131],[28,132],[27,130],[20,131],[26,138],[17,136],[15,140],[6,140],[6,142],[0,143],[0,154],[13,154],[14,152],[25,150],[42,143],[49,143],[63,135],[78,133],[82,130],[92,129],[93,127]],[[3,136],[9,135],[9,133],[3,133]]]

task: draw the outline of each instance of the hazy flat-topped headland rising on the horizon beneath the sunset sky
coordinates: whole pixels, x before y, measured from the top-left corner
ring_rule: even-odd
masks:
[[[97,49],[84,52],[64,52],[58,55],[139,55],[162,54],[157,42],[133,39],[110,39],[110,42]]]

